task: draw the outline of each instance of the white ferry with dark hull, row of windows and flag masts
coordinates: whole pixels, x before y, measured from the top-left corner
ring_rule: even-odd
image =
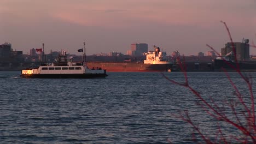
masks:
[[[85,45],[85,43],[84,43]],[[74,78],[74,79],[92,79],[92,78],[104,78],[108,76],[106,70],[101,68],[89,69],[84,62],[84,50],[83,63],[73,63],[72,57],[66,57],[66,51],[59,52],[58,61],[51,64],[42,63],[38,68],[28,68],[22,70],[21,77],[24,78]]]

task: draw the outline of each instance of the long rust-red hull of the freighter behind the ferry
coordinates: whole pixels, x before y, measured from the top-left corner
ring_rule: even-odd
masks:
[[[87,62],[89,68],[101,68],[110,72],[163,72],[172,68],[172,64],[144,64],[124,62]]]

